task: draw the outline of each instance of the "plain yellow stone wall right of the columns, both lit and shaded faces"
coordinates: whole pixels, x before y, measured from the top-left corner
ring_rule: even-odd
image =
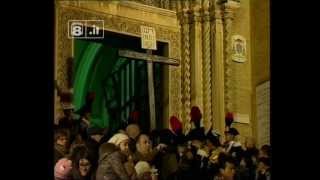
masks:
[[[242,142],[246,136],[257,137],[255,88],[270,79],[269,20],[269,0],[242,0],[234,14],[232,34],[247,43],[247,61],[232,62],[234,112],[250,117],[249,124],[234,124]]]

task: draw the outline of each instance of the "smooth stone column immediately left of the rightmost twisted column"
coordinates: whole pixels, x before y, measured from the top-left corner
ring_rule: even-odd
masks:
[[[214,5],[212,29],[212,104],[213,128],[224,132],[224,56],[223,56],[223,23],[219,5]]]

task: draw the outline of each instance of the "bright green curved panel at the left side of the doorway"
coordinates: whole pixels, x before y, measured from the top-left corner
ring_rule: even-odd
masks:
[[[87,92],[96,93],[93,102],[91,125],[109,127],[111,120],[106,109],[103,80],[110,74],[117,58],[117,49],[101,43],[75,41],[74,97],[75,110],[85,103]]]

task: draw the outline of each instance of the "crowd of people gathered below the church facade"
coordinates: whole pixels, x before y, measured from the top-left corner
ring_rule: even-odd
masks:
[[[91,127],[90,110],[73,108],[55,127],[54,177],[56,180],[269,180],[271,146],[259,149],[252,138],[242,145],[226,116],[225,142],[213,128],[201,127],[202,114],[191,109],[194,128],[186,135],[181,121],[170,117],[170,128],[142,131],[129,123],[111,134]]]

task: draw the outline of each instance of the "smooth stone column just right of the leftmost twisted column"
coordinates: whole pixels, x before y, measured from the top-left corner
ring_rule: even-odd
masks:
[[[191,27],[191,106],[203,109],[203,86],[202,86],[202,17],[200,0],[193,7]]]

